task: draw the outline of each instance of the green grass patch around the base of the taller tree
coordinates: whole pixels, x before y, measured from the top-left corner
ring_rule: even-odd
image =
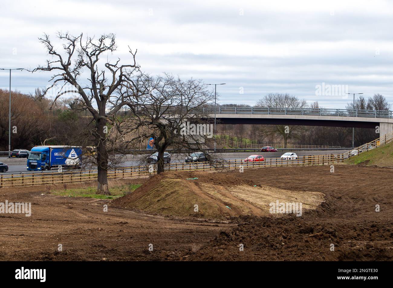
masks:
[[[113,199],[132,193],[136,188],[142,184],[123,184],[109,188],[112,195],[100,195],[95,194],[97,187],[85,187],[85,188],[72,188],[52,191],[55,195],[68,196],[68,197],[89,197],[97,199]]]

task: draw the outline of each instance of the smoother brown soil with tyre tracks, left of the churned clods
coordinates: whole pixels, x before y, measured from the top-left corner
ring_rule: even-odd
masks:
[[[0,261],[179,259],[233,226],[111,207],[104,212],[108,200],[54,196],[44,186],[1,189],[0,202],[5,200],[32,202],[32,213],[0,214]]]

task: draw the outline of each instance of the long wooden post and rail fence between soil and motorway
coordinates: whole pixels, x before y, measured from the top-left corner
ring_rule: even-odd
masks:
[[[244,162],[243,159],[223,160],[221,163],[226,170],[247,169],[247,168],[268,168],[281,166],[310,166],[310,165],[329,165],[342,162],[354,155],[371,149],[376,149],[382,144],[387,144],[393,140],[393,132],[388,133],[378,139],[375,139],[362,146],[356,147],[348,152],[340,154],[325,155],[304,155],[298,156],[298,159],[281,160],[281,158],[271,158],[265,161]],[[156,173],[155,166],[149,171],[149,166],[129,166],[121,167],[108,171],[108,179],[125,179],[129,177],[141,177]],[[210,171],[216,168],[211,166],[209,162],[193,162],[193,163],[171,163],[167,164],[166,170],[170,171]],[[24,173],[24,174],[2,174],[0,175],[0,188],[13,186],[31,186],[44,184],[65,184],[86,182],[97,179],[97,170],[73,170],[59,172],[41,172],[41,173]]]

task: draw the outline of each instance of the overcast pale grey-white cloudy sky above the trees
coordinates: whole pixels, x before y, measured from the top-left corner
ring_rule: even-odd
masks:
[[[129,63],[130,46],[145,72],[227,83],[218,86],[221,104],[253,105],[269,92],[325,108],[345,108],[352,99],[317,95],[322,83],[393,102],[393,1],[2,0],[1,6],[0,68],[44,64],[43,33],[53,40],[57,31],[115,33],[113,56],[122,63]],[[50,76],[13,71],[11,89],[33,93]],[[8,89],[8,77],[0,72],[1,88]]]

